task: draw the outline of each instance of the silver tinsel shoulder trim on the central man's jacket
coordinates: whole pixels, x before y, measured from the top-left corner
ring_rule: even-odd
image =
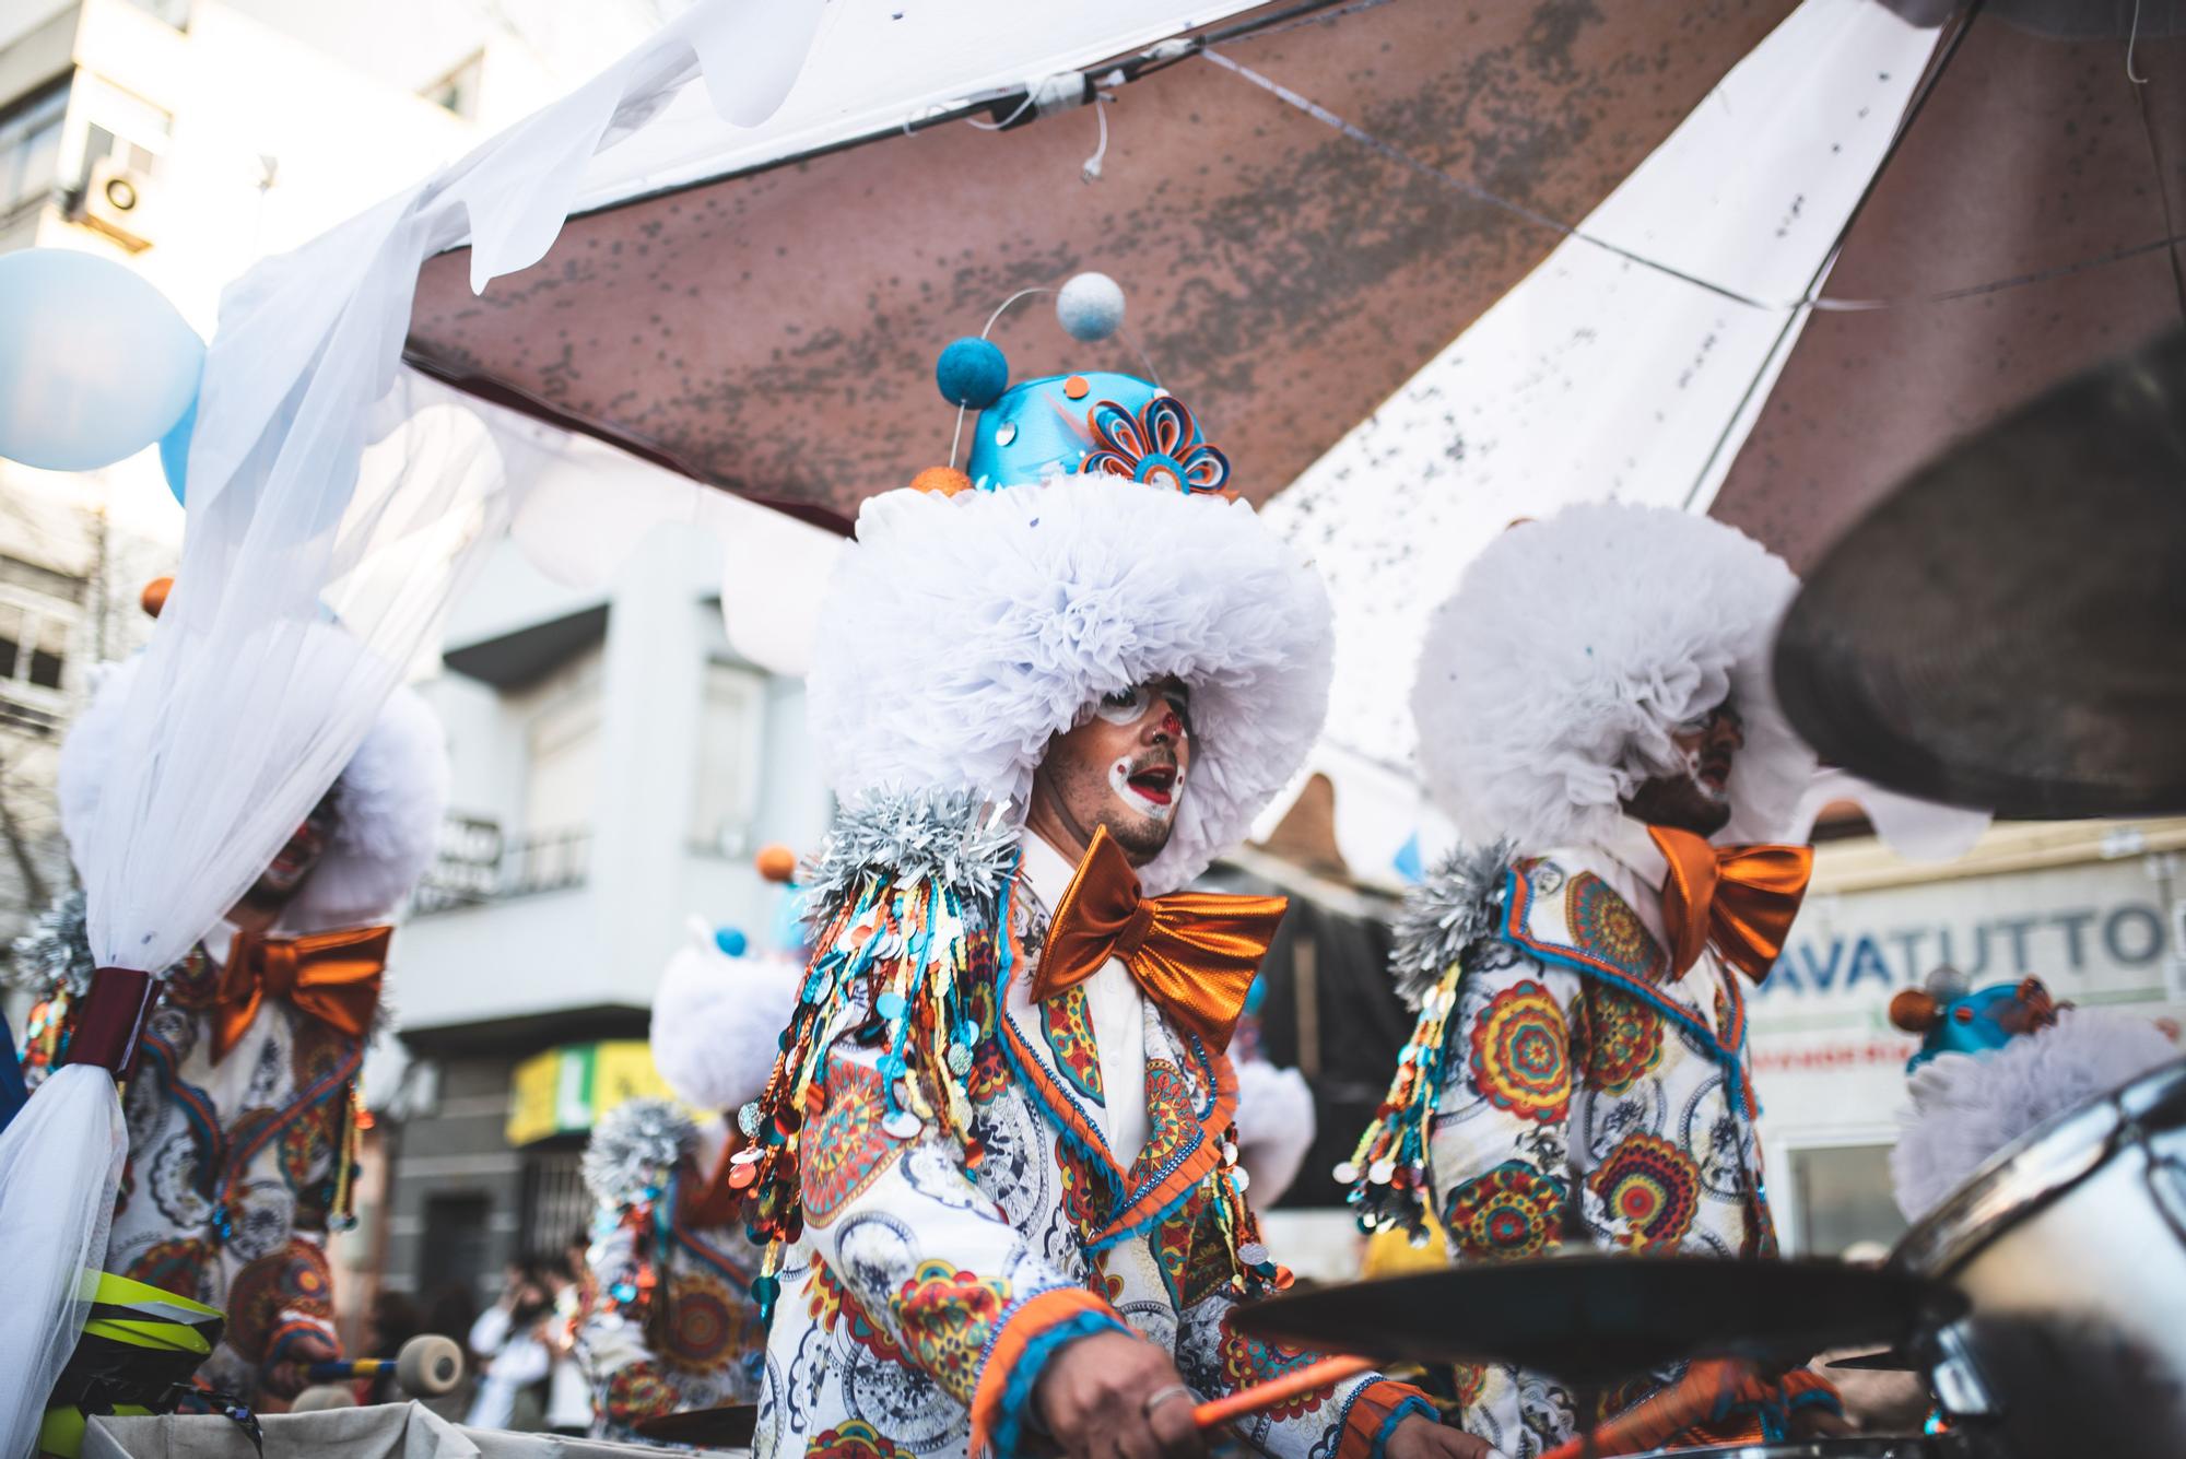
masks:
[[[1016,863],[1016,819],[964,791],[872,791],[846,806],[807,869],[811,922],[824,926],[868,874],[896,885],[933,880],[960,898],[1001,893]]]

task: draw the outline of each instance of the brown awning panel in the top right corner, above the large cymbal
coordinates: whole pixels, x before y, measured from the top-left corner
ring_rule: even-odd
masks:
[[[1716,518],[1806,568],[1946,443],[2186,317],[2151,247],[2186,234],[2186,39],[2142,31],[2134,70],[2123,35],[1972,22],[1823,293],[1891,306],[1808,319]]]

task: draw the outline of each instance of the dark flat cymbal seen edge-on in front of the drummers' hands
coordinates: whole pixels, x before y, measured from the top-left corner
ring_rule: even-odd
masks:
[[[1550,1256],[1288,1293],[1231,1321],[1320,1352],[1517,1363],[1600,1387],[1699,1356],[1801,1363],[1906,1343],[1963,1308],[1908,1273],[1825,1260]]]

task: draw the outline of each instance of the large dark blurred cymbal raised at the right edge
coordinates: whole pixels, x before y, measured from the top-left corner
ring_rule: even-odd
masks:
[[[2186,330],[1915,472],[1775,644],[1823,760],[2018,819],[2186,812]]]

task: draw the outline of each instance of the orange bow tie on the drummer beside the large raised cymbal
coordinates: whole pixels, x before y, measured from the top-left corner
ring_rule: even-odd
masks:
[[[1670,970],[1683,974],[1716,952],[1758,985],[1784,954],[1784,937],[1814,876],[1810,845],[1712,845],[1690,830],[1648,826],[1670,863],[1661,920],[1670,933]]]

